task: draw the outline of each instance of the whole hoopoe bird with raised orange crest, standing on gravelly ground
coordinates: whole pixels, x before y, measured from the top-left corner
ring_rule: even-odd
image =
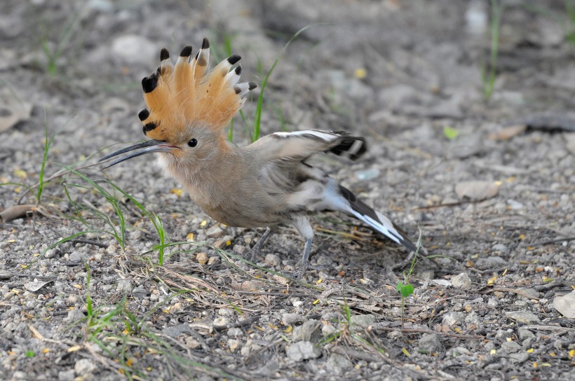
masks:
[[[208,39],[203,39],[195,57],[186,46],[175,65],[168,50],[162,49],[160,67],[142,80],[147,109],[138,116],[150,140],[100,159],[128,153],[102,169],[156,153],[159,167],[181,183],[212,219],[227,226],[266,227],[252,253],[259,253],[270,227],[292,224],[305,238],[298,278],[309,263],[313,240],[309,216],[316,212],[344,212],[415,251],[413,242],[386,216],[306,163],[322,152],[356,160],[367,148],[362,137],[318,130],[276,132],[243,147],[226,139],[225,127],[257,87],[239,82],[240,58],[232,55],[210,70]]]

